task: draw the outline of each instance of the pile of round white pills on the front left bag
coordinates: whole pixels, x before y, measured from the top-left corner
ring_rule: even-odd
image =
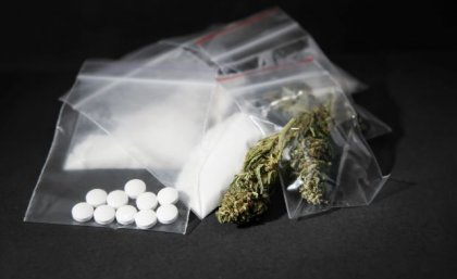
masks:
[[[128,200],[135,200],[129,205]],[[102,189],[92,189],[86,194],[86,202],[77,203],[72,208],[73,219],[85,223],[94,217],[100,225],[114,221],[126,226],[135,223],[139,229],[149,229],[157,221],[172,224],[177,219],[178,192],[174,188],[165,187],[157,195],[146,191],[146,183],[140,179],[132,179],[125,183],[124,190],[107,193]],[[156,207],[159,206],[159,208]]]

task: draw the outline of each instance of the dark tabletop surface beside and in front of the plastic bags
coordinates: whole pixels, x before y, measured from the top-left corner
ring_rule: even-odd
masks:
[[[346,61],[346,60],[345,60]],[[450,278],[457,241],[456,53],[355,55],[344,66],[371,84],[357,98],[394,126],[375,145],[391,180],[368,207],[288,220],[281,195],[262,225],[190,234],[22,223],[74,73],[10,75],[2,111],[2,278]],[[10,84],[8,84],[10,83]]]

